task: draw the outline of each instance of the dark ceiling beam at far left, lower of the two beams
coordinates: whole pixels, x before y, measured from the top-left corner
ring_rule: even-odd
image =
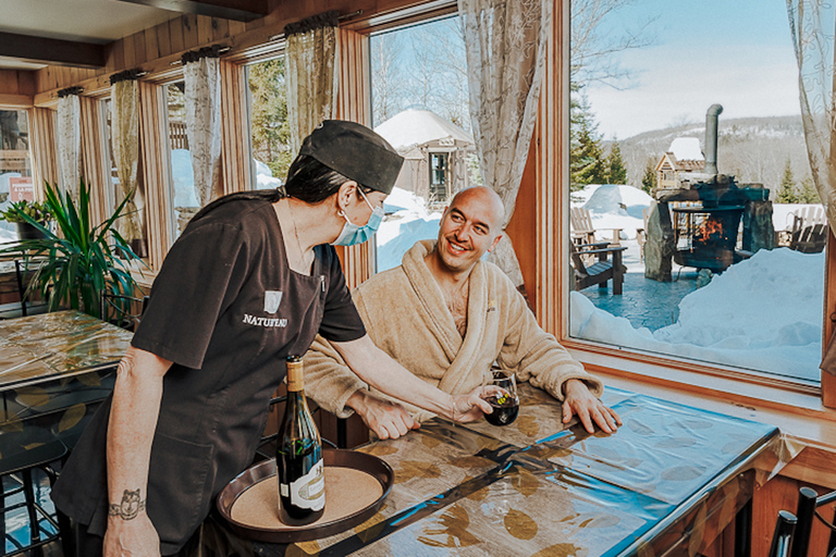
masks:
[[[102,67],[107,60],[102,45],[2,32],[0,57],[76,67]]]

